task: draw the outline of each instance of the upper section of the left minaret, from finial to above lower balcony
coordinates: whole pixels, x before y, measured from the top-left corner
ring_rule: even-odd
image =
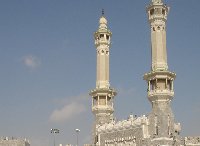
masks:
[[[109,51],[112,33],[107,28],[107,20],[103,16],[99,20],[99,29],[94,34],[97,50],[96,88],[109,88]]]

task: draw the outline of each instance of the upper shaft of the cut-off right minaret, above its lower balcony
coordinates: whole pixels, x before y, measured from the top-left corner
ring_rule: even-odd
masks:
[[[151,26],[152,70],[167,70],[166,21],[169,7],[162,0],[152,0],[147,12]]]

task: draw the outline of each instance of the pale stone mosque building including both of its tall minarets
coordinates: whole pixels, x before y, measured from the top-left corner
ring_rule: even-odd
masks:
[[[94,34],[97,53],[96,88],[90,92],[94,127],[91,145],[96,146],[200,146],[200,137],[181,137],[181,125],[171,109],[176,74],[167,63],[166,21],[169,7],[162,0],[147,6],[151,29],[151,70],[144,74],[147,97],[152,105],[148,115],[115,121],[113,101],[117,92],[109,83],[109,53],[112,33],[102,13]]]

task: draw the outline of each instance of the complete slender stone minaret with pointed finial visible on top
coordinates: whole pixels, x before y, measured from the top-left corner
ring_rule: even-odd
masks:
[[[96,53],[97,53],[97,77],[96,88],[90,92],[92,96],[92,112],[95,116],[95,126],[93,129],[93,143],[98,142],[96,137],[96,127],[109,123],[113,120],[113,99],[116,95],[109,83],[109,52],[111,46],[112,33],[107,27],[107,20],[102,11],[99,20],[99,28],[94,33]]]

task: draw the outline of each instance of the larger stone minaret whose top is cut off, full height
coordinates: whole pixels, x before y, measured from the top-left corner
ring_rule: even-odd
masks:
[[[166,49],[166,22],[169,13],[162,0],[152,0],[147,6],[148,20],[151,27],[151,71],[144,75],[148,83],[148,99],[152,104],[149,114],[149,132],[154,144],[172,145],[173,138],[179,131],[174,123],[171,101],[174,96],[173,82],[176,74],[168,71]]]

